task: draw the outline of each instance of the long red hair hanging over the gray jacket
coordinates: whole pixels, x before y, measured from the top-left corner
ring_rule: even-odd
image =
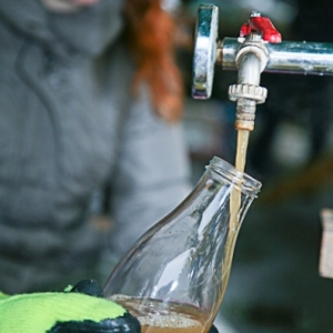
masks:
[[[183,84],[174,61],[174,21],[161,0],[127,0],[127,40],[137,63],[133,90],[144,81],[155,112],[169,122],[182,115]]]

